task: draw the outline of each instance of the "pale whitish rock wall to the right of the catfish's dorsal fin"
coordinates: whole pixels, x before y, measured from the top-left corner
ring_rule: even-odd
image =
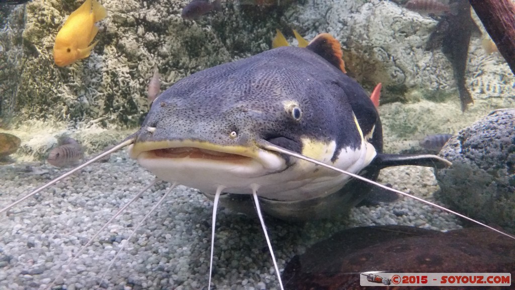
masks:
[[[349,75],[372,90],[383,84],[381,103],[420,100],[442,102],[458,98],[451,63],[440,49],[426,51],[438,23],[404,8],[405,1],[328,0],[297,6],[287,21],[307,39],[319,31],[342,44]],[[515,79],[499,54],[488,55],[481,45],[487,35],[473,34],[466,84],[474,100],[512,98]]]

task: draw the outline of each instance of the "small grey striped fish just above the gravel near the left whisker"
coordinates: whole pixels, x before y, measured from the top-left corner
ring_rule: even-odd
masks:
[[[57,167],[67,167],[76,165],[84,157],[82,147],[75,139],[65,137],[59,143],[60,146],[52,149],[48,154],[46,160],[49,164]]]

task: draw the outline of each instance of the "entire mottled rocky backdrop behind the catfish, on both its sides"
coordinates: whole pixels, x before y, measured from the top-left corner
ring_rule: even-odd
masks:
[[[292,28],[308,40],[331,33],[351,76],[369,91],[383,84],[380,114],[389,152],[413,151],[426,134],[456,133],[515,103],[513,75],[499,54],[485,53],[478,34],[467,67],[475,105],[462,114],[448,59],[440,50],[424,50],[437,20],[406,10],[405,1],[225,1],[222,11],[195,21],[180,16],[188,2],[102,1],[108,17],[98,23],[93,53],[64,68],[54,64],[52,47],[82,1],[2,6],[0,130],[22,138],[19,157],[44,158],[63,134],[89,152],[121,140],[145,117],[155,64],[165,90],[196,71],[270,49],[276,28],[292,43]]]

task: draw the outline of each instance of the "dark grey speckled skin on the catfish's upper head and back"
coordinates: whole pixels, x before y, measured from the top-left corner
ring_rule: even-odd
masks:
[[[286,100],[298,102],[299,122],[285,111]],[[361,137],[352,110],[364,135],[381,125],[353,79],[310,50],[279,47],[180,80],[152,104],[136,142],[191,139],[252,146],[255,140],[283,137],[281,146],[300,153],[304,136],[355,149]],[[147,126],[156,132],[150,134]],[[227,137],[232,131],[237,138]],[[374,144],[378,151],[381,137]]]

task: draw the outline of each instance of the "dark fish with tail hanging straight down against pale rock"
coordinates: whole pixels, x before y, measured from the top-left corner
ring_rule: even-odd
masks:
[[[470,37],[473,31],[479,31],[480,33],[480,30],[470,16],[468,0],[454,0],[449,5],[456,7],[456,14],[447,14],[442,17],[427,41],[426,50],[442,47],[443,54],[452,64],[461,110],[465,111],[468,104],[474,103],[465,86]]]

